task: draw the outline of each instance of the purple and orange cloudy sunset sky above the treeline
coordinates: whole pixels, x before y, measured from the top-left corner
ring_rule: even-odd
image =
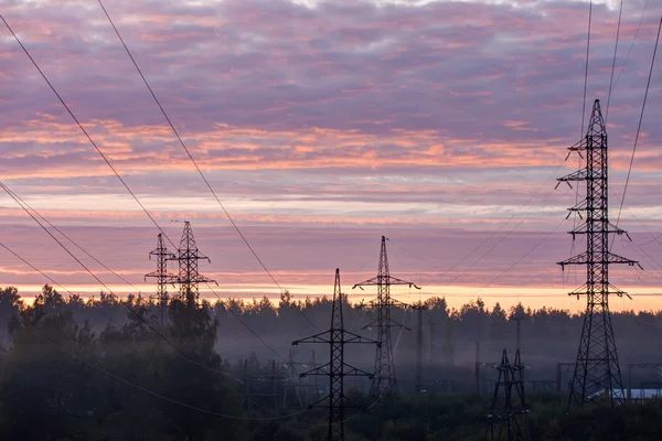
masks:
[[[279,286],[331,294],[377,271],[459,308],[517,302],[577,312],[583,271],[570,235],[575,190],[555,189],[594,99],[608,117],[616,220],[662,14],[628,0],[592,2],[586,100],[586,1],[119,0],[105,3],[224,207]],[[0,13],[156,222],[179,244],[190,220],[225,297],[278,297],[228,222],[94,0],[2,0]],[[612,64],[616,66],[612,77]],[[612,93],[609,84],[612,78]],[[655,65],[613,251],[632,300],[662,309],[662,71]],[[607,106],[609,103],[609,106]],[[583,108],[584,121],[583,121]],[[608,109],[608,114],[607,114]],[[127,286],[72,252],[114,292],[154,291],[143,275],[157,227],[0,25],[0,178]],[[581,193],[579,193],[581,195]],[[85,272],[7,194],[0,241],[72,292]],[[46,280],[0,248],[0,287]],[[203,295],[214,299],[211,292]]]

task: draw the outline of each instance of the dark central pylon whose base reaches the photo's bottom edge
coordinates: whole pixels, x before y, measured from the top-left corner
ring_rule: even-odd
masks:
[[[345,402],[349,400],[349,398],[344,394],[344,377],[372,377],[372,374],[363,372],[344,362],[344,345],[349,343],[376,343],[378,345],[378,343],[373,340],[362,337],[361,335],[354,334],[350,331],[345,331],[342,319],[342,300],[343,294],[340,290],[340,270],[335,269],[333,305],[331,310],[331,329],[329,329],[329,331],[292,342],[292,345],[302,343],[324,343],[329,345],[329,363],[312,368],[303,374],[299,374],[301,378],[306,377],[307,375],[324,375],[329,377],[329,395],[311,406],[329,409],[329,441],[344,440],[345,409],[348,407],[355,407]],[[327,404],[322,405],[322,402]]]

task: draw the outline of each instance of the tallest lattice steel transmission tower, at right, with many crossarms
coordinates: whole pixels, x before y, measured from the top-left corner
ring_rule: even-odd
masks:
[[[583,406],[587,398],[606,398],[613,407],[624,399],[621,372],[618,364],[609,295],[622,297],[623,291],[609,283],[609,265],[639,265],[634,260],[609,251],[609,235],[627,233],[609,223],[608,179],[607,179],[607,131],[600,111],[600,101],[595,100],[586,137],[570,147],[578,152],[584,166],[560,182],[586,182],[586,197],[569,212],[577,212],[584,223],[569,232],[573,240],[576,235],[586,235],[586,251],[558,262],[586,266],[586,283],[569,295],[586,295],[586,314],[579,340],[573,386],[568,409],[573,405]],[[558,184],[557,184],[558,185]],[[568,217],[570,215],[568,213]]]

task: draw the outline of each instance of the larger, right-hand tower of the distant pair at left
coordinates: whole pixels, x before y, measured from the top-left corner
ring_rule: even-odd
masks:
[[[188,220],[184,222],[180,248],[173,260],[179,261],[179,275],[175,281],[180,286],[180,295],[186,305],[192,308],[196,304],[200,294],[197,283],[216,283],[216,281],[197,272],[197,260],[210,261],[210,258],[197,250],[193,229]]]

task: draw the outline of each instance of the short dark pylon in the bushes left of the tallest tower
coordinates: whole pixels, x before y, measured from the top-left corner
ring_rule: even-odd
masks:
[[[490,441],[502,439],[524,441],[528,439],[528,407],[524,399],[522,378],[524,366],[520,361],[520,351],[515,353],[515,363],[511,365],[508,353],[503,349],[496,369],[499,369],[499,378],[494,385],[485,438]],[[503,402],[499,395],[501,388],[503,388]]]

